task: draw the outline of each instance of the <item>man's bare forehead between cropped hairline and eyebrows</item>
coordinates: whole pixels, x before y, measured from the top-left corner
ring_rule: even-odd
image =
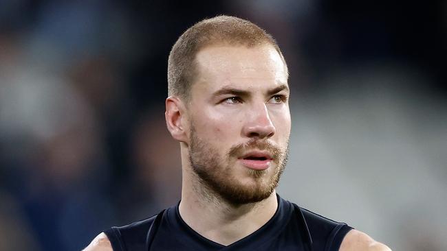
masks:
[[[201,49],[196,62],[198,88],[287,84],[286,67],[272,45],[213,45]]]

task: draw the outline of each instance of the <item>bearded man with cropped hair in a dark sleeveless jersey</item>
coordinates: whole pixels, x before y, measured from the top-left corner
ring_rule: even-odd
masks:
[[[291,127],[287,78],[278,45],[249,21],[217,16],[186,30],[169,56],[166,99],[182,200],[86,250],[389,250],[275,193]]]

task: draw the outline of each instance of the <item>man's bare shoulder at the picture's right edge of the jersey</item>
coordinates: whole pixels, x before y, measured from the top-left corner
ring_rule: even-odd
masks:
[[[343,239],[340,251],[391,251],[391,249],[364,232],[353,229]]]

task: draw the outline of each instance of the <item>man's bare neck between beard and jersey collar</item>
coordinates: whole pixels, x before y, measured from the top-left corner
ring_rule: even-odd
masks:
[[[235,205],[204,191],[206,188],[186,176],[184,173],[179,205],[182,219],[199,235],[221,245],[228,246],[252,234],[273,217],[278,207],[275,192],[261,202]]]

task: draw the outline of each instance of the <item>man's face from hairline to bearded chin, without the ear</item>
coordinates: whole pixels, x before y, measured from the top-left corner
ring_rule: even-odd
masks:
[[[268,198],[290,135],[287,73],[271,45],[197,53],[190,92],[190,164],[201,185],[232,204]]]

